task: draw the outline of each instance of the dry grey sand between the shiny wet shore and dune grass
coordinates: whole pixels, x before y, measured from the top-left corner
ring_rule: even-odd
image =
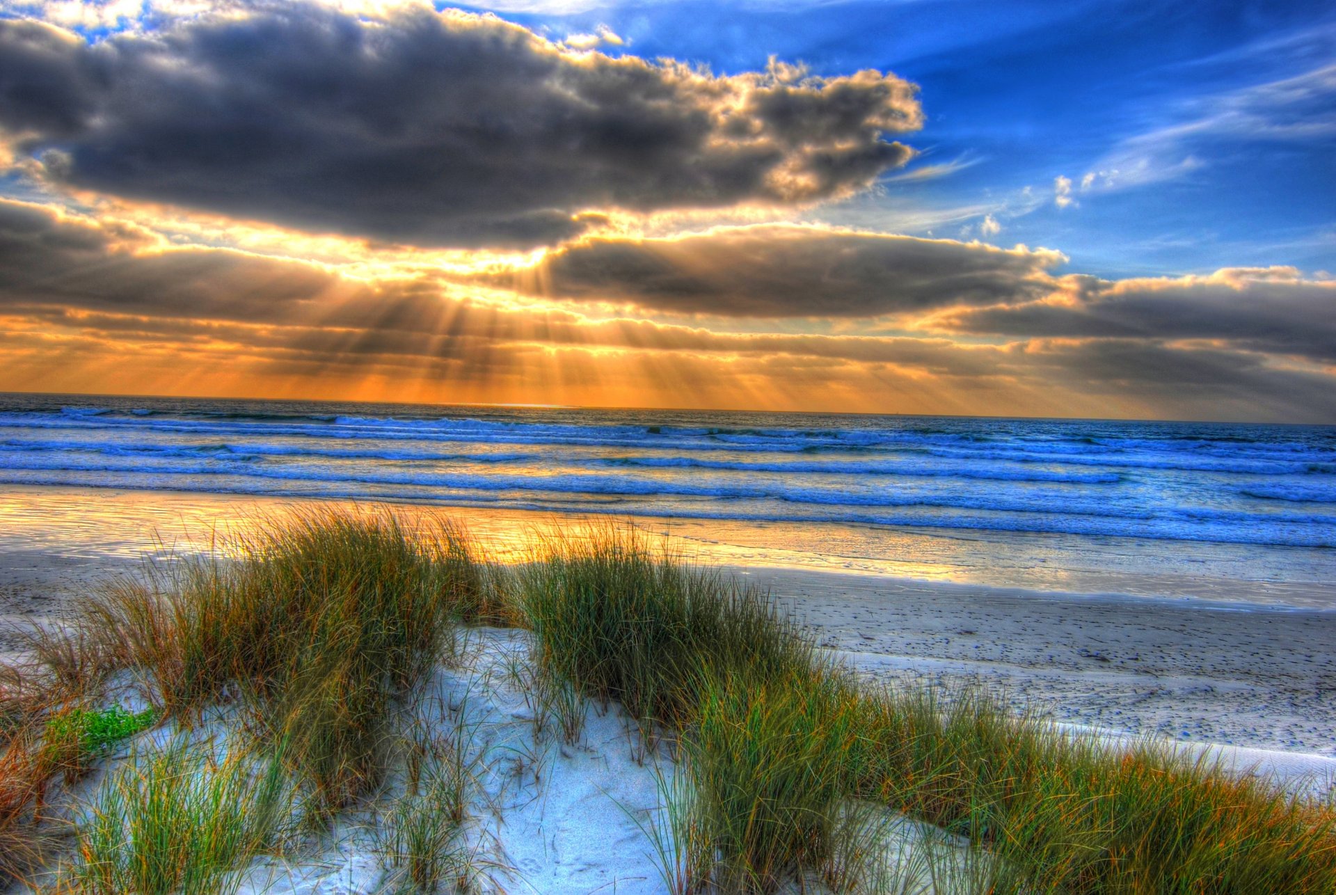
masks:
[[[0,550],[0,622],[57,618],[130,557]],[[724,565],[879,684],[1001,692],[1018,712],[1336,759],[1336,613]],[[1248,624],[1240,624],[1244,617]],[[7,635],[0,649],[12,651]]]

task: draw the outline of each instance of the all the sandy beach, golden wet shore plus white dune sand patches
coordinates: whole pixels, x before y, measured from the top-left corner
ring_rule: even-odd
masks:
[[[25,625],[60,626],[110,584],[216,552],[228,544],[228,533],[291,512],[389,509],[406,530],[421,532],[433,521],[454,520],[482,554],[502,565],[532,561],[534,538],[544,533],[612,530],[609,520],[599,517],[351,501],[69,488],[11,489],[5,497],[0,617],[7,624],[0,651],[19,661]],[[1284,605],[1275,594],[1246,601],[1240,593],[1228,600],[1071,593],[832,572],[811,561],[741,564],[745,550],[727,538],[664,538],[657,520],[612,524],[635,525],[644,544],[716,572],[725,592],[728,582],[744,582],[764,593],[780,617],[799,622],[822,655],[852,669],[868,692],[882,684],[922,692],[926,684],[951,700],[983,689],[1014,712],[1041,719],[1058,739],[1102,741],[1114,755],[1142,743],[1168,743],[1189,761],[1204,759],[1228,775],[1257,775],[1300,797],[1329,800],[1336,792],[1336,661],[1328,649],[1336,612],[1329,609]],[[573,737],[540,735],[556,720],[541,720],[550,709],[538,708],[537,679],[522,671],[536,661],[532,631],[464,628],[454,659],[436,668],[410,709],[413,724],[456,737],[450,741],[465,743],[473,756],[468,820],[456,843],[472,855],[470,866],[489,868],[476,891],[671,891],[651,830],[667,823],[665,787],[673,785],[681,765],[665,751],[651,760],[633,716],[596,699],[578,701],[584,721]],[[138,687],[112,685],[104,699],[130,712],[148,709]],[[560,719],[560,711],[553,717]],[[223,704],[187,736],[207,751],[234,743],[240,729],[236,707]],[[140,752],[171,755],[180,736],[174,724],[139,733],[110,756],[106,772],[75,781],[60,811],[87,803],[98,787],[108,785],[108,775],[143,760],[135,757]],[[391,777],[379,797],[407,797],[405,785]],[[943,871],[926,871],[922,860],[959,868],[981,860],[967,838],[884,807],[878,811],[878,823],[886,824],[878,847],[884,854],[874,863],[910,886],[906,891],[943,891],[931,882]],[[235,876],[238,892],[381,891],[391,878],[385,843],[377,839],[386,823],[374,807],[346,811],[301,848],[248,859]],[[973,871],[951,872],[965,878]],[[816,879],[802,888],[832,891]],[[778,891],[796,892],[799,886]]]

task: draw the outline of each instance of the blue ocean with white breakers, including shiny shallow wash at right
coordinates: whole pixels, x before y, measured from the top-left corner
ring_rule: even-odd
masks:
[[[1321,426],[0,394],[0,486],[615,514],[735,560],[1336,605]]]

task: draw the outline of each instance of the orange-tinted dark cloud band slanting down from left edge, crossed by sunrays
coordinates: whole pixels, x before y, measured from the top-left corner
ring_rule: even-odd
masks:
[[[220,248],[160,251],[147,234],[0,200],[0,310],[107,333],[255,342],[266,326],[314,326],[302,345],[430,353],[476,339],[703,354],[782,354],[945,371],[947,339],[733,334],[649,321],[589,322],[441,294],[429,281],[370,287],[287,259]],[[318,331],[317,331],[318,330]],[[265,337],[269,338],[294,338]],[[313,341],[314,339],[314,341]],[[985,373],[975,363],[970,371]]]

